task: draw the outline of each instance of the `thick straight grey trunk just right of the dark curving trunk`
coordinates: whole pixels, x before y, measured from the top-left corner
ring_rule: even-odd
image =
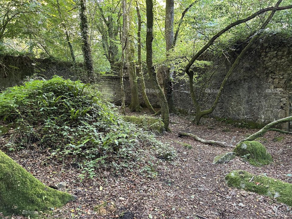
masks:
[[[172,49],[174,42],[173,22],[174,22],[174,0],[166,0],[165,5],[165,45],[166,57]],[[172,83],[173,69],[166,66],[166,78],[164,80],[164,93],[166,95],[169,111],[174,113],[176,108],[173,100],[173,83]]]

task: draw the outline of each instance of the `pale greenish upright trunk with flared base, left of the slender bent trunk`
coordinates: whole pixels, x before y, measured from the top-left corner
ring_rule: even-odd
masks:
[[[138,97],[138,83],[137,83],[137,75],[136,75],[136,68],[133,61],[133,28],[131,26],[131,30],[129,26],[132,22],[132,15],[130,15],[131,6],[127,6],[127,1],[125,1],[126,9],[129,8],[129,11],[126,11],[125,14],[125,35],[127,36],[127,44],[125,47],[125,55],[126,55],[126,64],[127,64],[127,71],[129,73],[129,80],[130,80],[130,89],[131,89],[131,104],[130,110],[139,112],[140,105],[139,105],[139,97]]]

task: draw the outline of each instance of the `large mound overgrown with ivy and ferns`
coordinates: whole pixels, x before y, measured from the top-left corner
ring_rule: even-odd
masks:
[[[84,171],[82,177],[93,177],[100,166],[118,172],[149,165],[145,146],[154,149],[155,156],[169,153],[154,137],[125,122],[98,91],[79,81],[54,77],[12,87],[0,94],[0,116],[15,127],[11,150],[50,148],[53,156],[75,159]]]

